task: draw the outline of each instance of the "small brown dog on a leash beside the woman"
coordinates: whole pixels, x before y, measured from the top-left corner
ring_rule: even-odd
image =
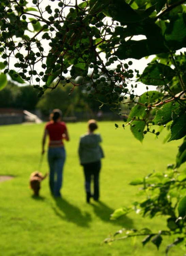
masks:
[[[34,191],[34,196],[39,196],[39,191],[41,188],[41,181],[46,178],[48,173],[46,173],[44,176],[41,172],[35,171],[32,172],[30,175],[30,188]]]

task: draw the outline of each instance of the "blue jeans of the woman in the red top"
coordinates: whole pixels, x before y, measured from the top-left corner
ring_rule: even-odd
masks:
[[[63,181],[63,166],[66,158],[64,147],[48,148],[48,164],[50,168],[49,186],[53,196],[59,197]]]

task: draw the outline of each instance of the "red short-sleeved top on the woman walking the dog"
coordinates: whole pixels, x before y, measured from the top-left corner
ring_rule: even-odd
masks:
[[[46,124],[45,129],[49,134],[49,146],[61,146],[63,145],[62,134],[66,131],[66,125],[64,122],[50,121]]]

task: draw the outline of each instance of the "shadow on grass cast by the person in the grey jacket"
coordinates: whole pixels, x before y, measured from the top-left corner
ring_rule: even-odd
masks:
[[[110,222],[111,224],[114,225],[121,225],[122,227],[125,228],[133,228],[133,220],[127,217],[126,215],[121,216],[115,221],[110,220],[110,214],[114,212],[115,209],[110,208],[107,204],[105,204],[102,201],[98,201],[96,203],[91,204],[94,213],[102,219],[104,222]]]

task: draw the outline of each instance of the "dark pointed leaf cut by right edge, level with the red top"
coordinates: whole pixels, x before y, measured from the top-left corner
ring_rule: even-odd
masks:
[[[173,116],[173,122],[171,124],[171,137],[168,140],[179,140],[186,135],[186,113],[183,113],[180,116]]]

